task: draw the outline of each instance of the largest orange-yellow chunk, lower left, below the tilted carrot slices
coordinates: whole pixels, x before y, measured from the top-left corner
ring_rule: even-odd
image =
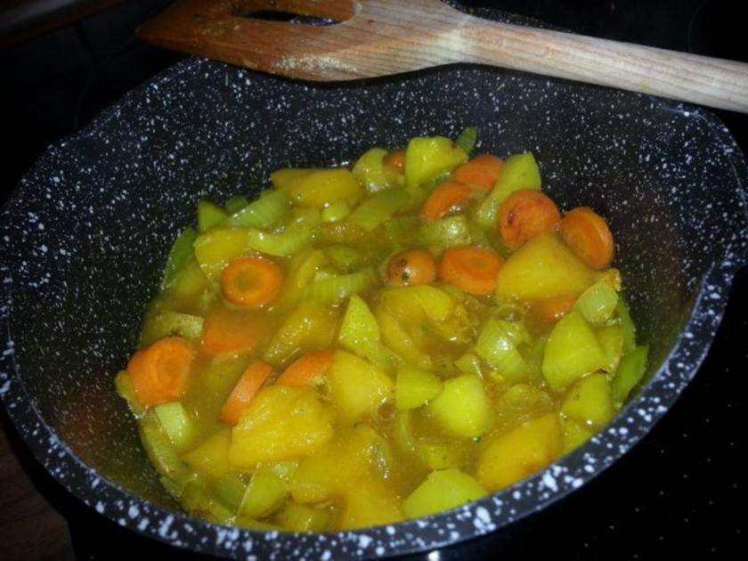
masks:
[[[253,469],[262,461],[303,458],[332,438],[331,420],[313,387],[265,387],[232,429],[229,462]]]

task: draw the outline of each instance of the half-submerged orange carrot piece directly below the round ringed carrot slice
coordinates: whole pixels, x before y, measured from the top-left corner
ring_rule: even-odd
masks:
[[[210,355],[251,351],[264,336],[264,323],[255,314],[215,308],[203,322],[202,350]]]

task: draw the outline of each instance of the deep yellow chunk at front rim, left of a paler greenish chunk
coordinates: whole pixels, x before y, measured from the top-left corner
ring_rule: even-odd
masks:
[[[346,494],[340,528],[368,528],[402,521],[397,495],[381,481],[362,481]]]

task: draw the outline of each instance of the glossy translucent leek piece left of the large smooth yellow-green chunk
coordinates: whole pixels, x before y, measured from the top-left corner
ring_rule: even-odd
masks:
[[[475,351],[501,376],[516,381],[527,375],[527,364],[517,350],[527,340],[529,335],[522,324],[489,318],[478,335]]]

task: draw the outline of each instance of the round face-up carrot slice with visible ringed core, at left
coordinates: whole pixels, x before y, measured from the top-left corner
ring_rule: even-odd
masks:
[[[221,292],[234,305],[258,308],[278,296],[283,272],[264,257],[240,257],[221,274]]]

